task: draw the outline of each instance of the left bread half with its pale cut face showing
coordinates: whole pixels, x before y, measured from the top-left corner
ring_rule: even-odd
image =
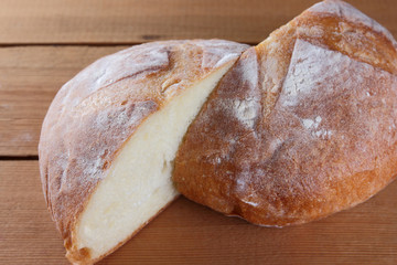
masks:
[[[72,262],[112,252],[179,194],[171,170],[180,141],[246,49],[218,40],[133,46],[58,92],[43,124],[40,169]]]

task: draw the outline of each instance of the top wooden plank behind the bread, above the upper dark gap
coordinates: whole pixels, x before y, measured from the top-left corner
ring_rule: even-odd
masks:
[[[2,0],[0,44],[221,38],[258,43],[316,0]],[[397,35],[395,0],[350,0]]]

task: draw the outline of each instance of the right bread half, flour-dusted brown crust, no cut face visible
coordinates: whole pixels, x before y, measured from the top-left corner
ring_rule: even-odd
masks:
[[[397,170],[397,52],[341,1],[247,50],[190,126],[173,180],[187,198],[261,225],[363,202]]]

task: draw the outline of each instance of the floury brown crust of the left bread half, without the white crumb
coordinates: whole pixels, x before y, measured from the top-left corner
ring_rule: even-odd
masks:
[[[71,261],[93,262],[77,250],[74,227],[126,140],[147,117],[247,47],[222,40],[137,45],[98,60],[60,89],[39,155],[47,208]]]

